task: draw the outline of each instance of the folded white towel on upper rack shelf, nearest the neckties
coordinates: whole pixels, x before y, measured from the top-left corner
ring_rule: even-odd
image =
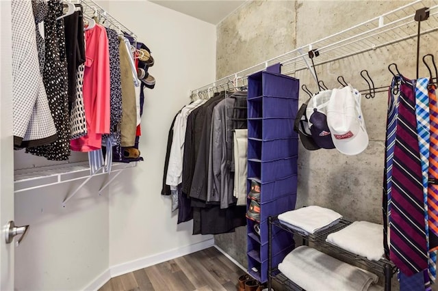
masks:
[[[368,260],[378,261],[385,253],[383,225],[368,221],[355,221],[339,232],[329,234],[326,241]]]

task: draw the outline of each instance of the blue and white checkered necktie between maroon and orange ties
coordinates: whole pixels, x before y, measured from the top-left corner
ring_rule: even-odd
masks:
[[[430,145],[430,117],[429,117],[429,96],[428,79],[420,78],[415,82],[415,115],[417,118],[418,146],[420,148],[420,160],[422,165],[423,184],[423,205],[424,223],[426,232],[426,247],[429,249],[429,227],[428,227],[428,169],[429,169],[429,145]],[[436,255],[428,253],[429,277],[435,281],[436,277]]]

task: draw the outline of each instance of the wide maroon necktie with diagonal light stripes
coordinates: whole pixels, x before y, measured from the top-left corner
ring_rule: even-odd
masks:
[[[428,268],[422,167],[411,81],[400,84],[391,185],[389,256],[405,275]]]

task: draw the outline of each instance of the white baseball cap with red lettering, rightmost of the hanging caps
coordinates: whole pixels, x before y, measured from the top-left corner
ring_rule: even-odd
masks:
[[[351,85],[333,89],[327,105],[327,125],[336,149],[342,154],[360,154],[367,148],[368,134],[357,89]]]

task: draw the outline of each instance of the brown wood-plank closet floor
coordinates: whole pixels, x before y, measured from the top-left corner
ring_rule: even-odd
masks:
[[[112,278],[100,291],[237,290],[245,272],[216,247]]]

